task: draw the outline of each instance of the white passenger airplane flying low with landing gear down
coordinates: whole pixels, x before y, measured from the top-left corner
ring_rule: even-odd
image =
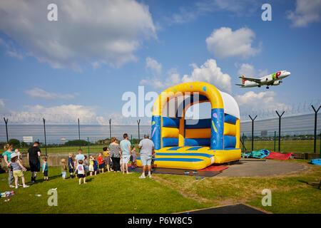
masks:
[[[240,88],[250,88],[256,86],[260,88],[261,86],[266,86],[268,89],[269,86],[279,86],[280,83],[282,83],[282,79],[290,76],[290,74],[291,73],[289,71],[278,71],[262,78],[247,78],[242,76],[238,77],[242,79],[242,84],[235,85],[240,86]]]

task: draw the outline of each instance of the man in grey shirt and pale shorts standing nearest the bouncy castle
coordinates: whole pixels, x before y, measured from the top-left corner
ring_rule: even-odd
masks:
[[[139,178],[145,178],[146,166],[148,167],[148,177],[151,176],[151,160],[156,156],[154,150],[154,142],[149,139],[149,135],[145,134],[143,140],[139,142],[138,148],[141,150],[141,165],[143,165],[143,173]]]

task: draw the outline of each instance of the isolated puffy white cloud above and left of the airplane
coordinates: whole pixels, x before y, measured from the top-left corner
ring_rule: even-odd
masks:
[[[215,29],[206,38],[206,43],[208,51],[218,58],[230,56],[248,58],[260,52],[261,45],[258,48],[252,47],[253,38],[255,38],[255,33],[250,28],[239,28],[232,31],[231,28],[222,27]]]

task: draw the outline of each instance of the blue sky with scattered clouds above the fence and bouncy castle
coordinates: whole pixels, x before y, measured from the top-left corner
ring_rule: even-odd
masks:
[[[233,95],[242,116],[318,107],[320,21],[320,0],[0,1],[0,113],[13,123],[149,124],[148,112],[123,114],[126,92],[138,104],[138,86],[159,94],[190,81]],[[235,86],[282,70],[290,77],[269,90]]]

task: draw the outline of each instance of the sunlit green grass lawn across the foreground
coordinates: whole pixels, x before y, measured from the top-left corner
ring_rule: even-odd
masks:
[[[305,162],[288,160],[282,162]],[[88,177],[88,184],[78,179],[62,180],[59,167],[49,167],[49,182],[19,187],[11,201],[0,199],[0,213],[172,213],[225,204],[245,203],[272,213],[321,213],[321,190],[307,185],[320,182],[321,167],[276,177],[195,177],[153,175],[138,179],[131,175],[105,173]],[[26,180],[30,180],[26,172]],[[0,174],[0,191],[9,189],[7,174]],[[57,188],[58,206],[49,207],[48,190]],[[263,207],[263,189],[272,191],[272,206]],[[36,197],[36,195],[41,197]]]

